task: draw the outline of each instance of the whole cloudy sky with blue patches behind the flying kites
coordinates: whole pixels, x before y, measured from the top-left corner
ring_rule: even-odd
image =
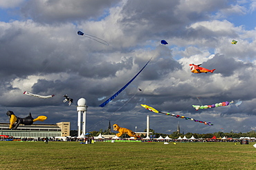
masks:
[[[71,122],[77,130],[83,97],[86,131],[108,129],[109,121],[144,131],[147,115],[156,133],[171,134],[178,122],[183,133],[254,131],[255,10],[255,0],[1,0],[0,122],[8,123],[6,112],[13,111],[48,117],[37,123]],[[99,106],[149,59],[122,93]],[[195,74],[189,64],[216,70]],[[62,102],[66,94],[71,106]],[[192,107],[226,101],[234,103]],[[140,104],[214,125],[152,113]]]

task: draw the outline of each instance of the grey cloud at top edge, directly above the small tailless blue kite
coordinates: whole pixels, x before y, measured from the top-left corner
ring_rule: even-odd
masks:
[[[185,26],[194,21],[204,21],[218,8],[228,8],[228,1],[127,1],[119,21],[125,34],[136,34],[139,39],[147,36],[183,36]],[[188,8],[185,8],[188,6]],[[147,26],[147,27],[145,27]]]

